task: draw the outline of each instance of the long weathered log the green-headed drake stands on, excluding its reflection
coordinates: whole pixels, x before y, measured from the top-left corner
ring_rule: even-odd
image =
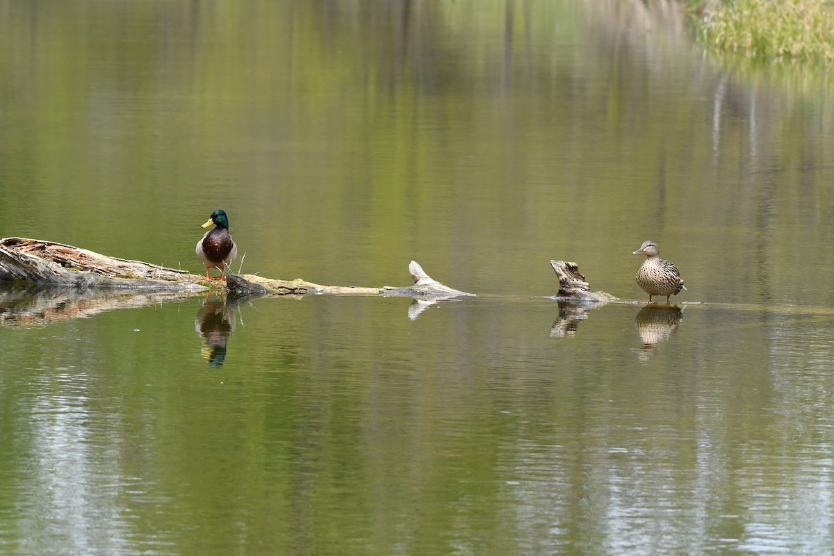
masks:
[[[236,294],[373,294],[420,298],[450,298],[471,295],[448,288],[423,272],[420,265],[409,264],[414,286],[404,288],[355,288],[322,286],[316,283],[272,280],[259,276],[227,273],[227,281],[207,280],[177,268],[165,268],[93,253],[87,249],[28,238],[0,239],[0,280],[19,280],[37,285],[73,286],[76,288],[133,288],[142,291],[201,292],[207,289]]]

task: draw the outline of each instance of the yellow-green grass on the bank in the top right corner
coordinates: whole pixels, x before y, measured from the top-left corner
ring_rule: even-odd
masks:
[[[834,0],[729,0],[710,3],[706,43],[750,58],[834,64]]]

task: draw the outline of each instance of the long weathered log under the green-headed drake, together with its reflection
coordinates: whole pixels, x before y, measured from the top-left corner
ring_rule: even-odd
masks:
[[[195,293],[246,295],[409,296],[430,303],[472,295],[437,282],[414,261],[409,265],[414,286],[358,288],[323,286],[296,279],[272,280],[251,274],[226,274],[226,281],[206,280],[198,274],[123,258],[108,257],[64,243],[29,238],[0,239],[0,280],[13,280],[31,288],[0,291],[0,323],[38,325],[65,318],[87,317],[114,308],[135,308],[186,298]],[[409,317],[420,310],[409,308]]]

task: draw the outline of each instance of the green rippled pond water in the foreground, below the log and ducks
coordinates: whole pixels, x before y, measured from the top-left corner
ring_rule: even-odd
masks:
[[[697,553],[826,542],[813,535],[831,518],[830,317],[691,306],[680,321],[674,308],[610,304],[553,338],[550,299],[466,298],[417,319],[407,307],[253,300],[234,308],[220,368],[193,332],[213,299],[6,328],[19,368],[3,383],[0,494],[27,511],[4,513],[4,543]],[[647,322],[663,337],[651,357]],[[808,341],[811,357],[796,348]]]

